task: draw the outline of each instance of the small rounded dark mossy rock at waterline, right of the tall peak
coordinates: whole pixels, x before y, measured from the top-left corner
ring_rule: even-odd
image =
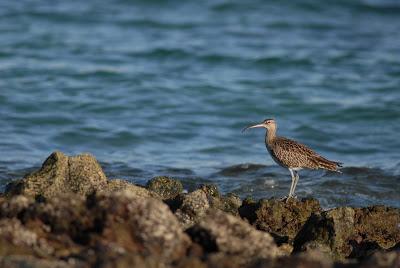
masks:
[[[162,199],[173,199],[183,191],[182,183],[170,177],[159,176],[147,182],[146,188]]]

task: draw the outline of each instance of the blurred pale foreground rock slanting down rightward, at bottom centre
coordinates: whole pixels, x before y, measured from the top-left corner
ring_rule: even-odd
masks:
[[[271,235],[220,210],[211,209],[187,232],[194,242],[202,245],[205,252],[238,257],[240,263],[247,263],[252,258],[283,255]]]

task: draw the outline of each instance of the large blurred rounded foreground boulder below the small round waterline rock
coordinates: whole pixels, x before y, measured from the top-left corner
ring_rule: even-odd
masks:
[[[186,254],[190,238],[163,202],[119,191],[99,197],[96,203],[102,243],[114,245],[114,250],[151,254],[165,262]]]

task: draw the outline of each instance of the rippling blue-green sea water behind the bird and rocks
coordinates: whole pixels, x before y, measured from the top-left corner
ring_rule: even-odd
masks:
[[[54,150],[109,176],[286,195],[264,132],[341,161],[303,171],[326,207],[400,207],[396,1],[1,1],[0,186]]]

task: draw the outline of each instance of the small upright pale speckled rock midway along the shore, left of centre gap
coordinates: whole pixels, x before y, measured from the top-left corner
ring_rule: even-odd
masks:
[[[188,228],[199,221],[210,208],[207,194],[198,189],[182,198],[181,207],[175,212],[183,228]]]

